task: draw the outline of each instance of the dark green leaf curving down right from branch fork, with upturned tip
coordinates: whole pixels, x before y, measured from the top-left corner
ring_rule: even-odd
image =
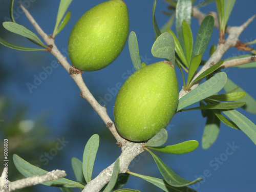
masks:
[[[148,151],[152,155],[161,175],[169,185],[172,185],[175,187],[184,187],[187,185],[192,185],[202,180],[202,178],[198,178],[194,181],[188,181],[186,179],[181,178],[170,167],[168,167],[159,157],[157,157],[153,152],[147,149],[146,151]]]

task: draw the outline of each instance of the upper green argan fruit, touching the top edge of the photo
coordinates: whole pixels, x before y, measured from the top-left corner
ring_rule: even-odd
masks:
[[[82,71],[100,70],[121,53],[129,33],[123,0],[103,2],[84,13],[69,37],[71,63]]]

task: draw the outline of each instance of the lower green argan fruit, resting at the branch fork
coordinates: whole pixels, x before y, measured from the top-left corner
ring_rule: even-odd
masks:
[[[114,118],[119,134],[131,141],[151,139],[172,120],[178,96],[172,63],[160,61],[136,71],[116,97]]]

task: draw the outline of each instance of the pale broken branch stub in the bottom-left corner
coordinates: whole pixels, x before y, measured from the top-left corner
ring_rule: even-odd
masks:
[[[22,189],[25,187],[34,186],[34,185],[45,183],[48,181],[53,181],[65,176],[67,176],[67,174],[65,173],[64,170],[57,169],[57,170],[53,170],[52,172],[48,172],[47,174],[44,174],[44,175],[33,176],[33,177],[10,182],[6,180],[7,176],[3,172],[2,177],[0,178],[0,189],[3,192],[11,192],[16,189]],[[4,184],[6,181],[8,181],[8,185]]]

